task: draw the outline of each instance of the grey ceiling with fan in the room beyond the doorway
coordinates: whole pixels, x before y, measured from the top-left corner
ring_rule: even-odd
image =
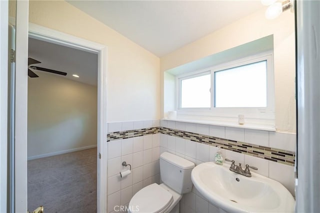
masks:
[[[41,62],[40,64],[34,64],[35,66],[67,73],[66,76],[50,73],[51,75],[93,86],[97,85],[97,54],[29,38],[28,57]],[[39,76],[40,80],[43,72],[33,71]],[[77,74],[79,78],[73,77],[72,74]]]

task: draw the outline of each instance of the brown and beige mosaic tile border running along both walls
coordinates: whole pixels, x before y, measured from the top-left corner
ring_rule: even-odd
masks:
[[[225,150],[229,150],[232,152],[237,152],[244,155],[249,155],[249,156],[253,156],[253,157],[257,157],[257,158],[261,158],[261,159],[265,159],[268,161],[273,161],[273,162],[277,162],[277,163],[285,164],[289,166],[294,166],[294,162],[295,162],[294,152],[274,149],[274,148],[264,147],[264,146],[254,145],[254,144],[248,144],[240,141],[216,138],[208,135],[201,135],[197,133],[175,130],[175,129],[165,128],[165,127],[153,127],[153,128],[130,130],[130,131],[123,131],[123,132],[112,132],[107,134],[107,142],[125,139],[125,138],[139,137],[143,135],[156,134],[156,133],[162,133],[165,135],[183,138],[183,139],[187,139],[197,143],[207,144],[214,147],[219,146]]]

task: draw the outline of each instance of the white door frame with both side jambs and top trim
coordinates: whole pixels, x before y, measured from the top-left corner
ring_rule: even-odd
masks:
[[[21,8],[27,8],[26,4],[21,4]],[[27,9],[23,10],[27,11]],[[22,14],[20,16],[27,17]],[[27,13],[26,13],[27,14]],[[25,19],[24,19],[25,20]],[[27,20],[27,18],[26,18]],[[17,22],[23,21],[22,18],[17,17]],[[23,24],[21,24],[23,25]],[[20,25],[20,26],[21,26]],[[62,46],[67,46],[98,55],[98,73],[97,73],[97,212],[106,211],[106,180],[107,180],[107,155],[106,155],[106,69],[107,69],[107,48],[102,44],[91,42],[81,39],[69,34],[55,31],[37,24],[26,23],[28,31],[20,30],[17,36],[25,36],[23,33],[27,32],[28,37],[55,43]],[[23,26],[24,26],[23,25]],[[26,28],[27,28],[26,27]],[[20,27],[21,28],[21,27]],[[19,104],[15,106],[15,171],[14,176],[15,189],[14,189],[14,206],[16,212],[26,212],[27,209],[27,39],[19,39],[19,54],[16,58],[18,74],[16,75],[16,82],[18,85],[18,93],[15,94],[15,99]],[[23,54],[22,54],[23,53]],[[13,178],[13,177],[12,177]]]

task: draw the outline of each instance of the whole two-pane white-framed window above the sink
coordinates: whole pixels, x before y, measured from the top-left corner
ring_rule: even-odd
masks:
[[[179,75],[176,81],[178,115],[274,118],[270,52]]]

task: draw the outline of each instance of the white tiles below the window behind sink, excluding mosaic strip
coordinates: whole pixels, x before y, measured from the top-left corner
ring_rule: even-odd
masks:
[[[176,127],[183,128],[181,122],[176,122]],[[185,123],[185,131],[195,132],[196,130],[204,131],[202,126],[196,128],[196,124]],[[206,129],[206,127],[204,127]],[[283,133],[272,133],[267,131],[259,130],[244,130],[238,128],[229,128],[229,127],[219,127],[219,126],[208,126],[209,135],[219,138],[227,138],[230,140],[242,141],[246,143],[257,144],[261,146],[269,146],[269,141],[271,140],[280,140]],[[199,133],[199,132],[196,132]],[[200,133],[200,134],[202,134]],[[269,139],[269,134],[272,134]],[[277,135],[280,134],[280,135]],[[292,134],[294,135],[294,134]],[[290,136],[287,136],[285,140],[290,141]],[[292,138],[292,137],[291,137]],[[245,139],[245,140],[244,140]],[[162,141],[163,140],[163,141]],[[292,139],[291,139],[292,141]],[[175,143],[175,148],[172,144]],[[276,142],[275,142],[276,143]],[[281,143],[279,141],[279,143]],[[287,142],[292,143],[292,142]],[[170,149],[167,149],[170,147]],[[184,148],[184,149],[183,149]],[[183,153],[184,150],[184,153]],[[173,136],[164,136],[160,134],[160,153],[164,151],[171,152],[177,156],[185,158],[195,165],[198,165],[202,162],[214,161],[214,155],[217,152],[218,148],[213,146],[208,146],[206,144],[201,144],[193,142],[186,139],[181,139]],[[285,150],[285,149],[284,149]],[[236,164],[241,163],[242,167],[245,167],[245,164],[254,166],[258,168],[258,171],[251,170],[260,175],[269,177],[276,181],[279,181],[283,186],[285,186],[291,193],[294,189],[294,179],[293,179],[293,167],[282,165],[279,163],[267,161],[264,159],[244,155],[241,153],[236,153],[228,150],[221,149],[223,158],[229,158],[235,160]],[[283,175],[285,174],[285,175]],[[294,195],[294,194],[293,194]],[[192,192],[183,195],[180,202],[180,212],[183,213],[221,213],[222,210],[216,208],[210,204],[206,199],[203,198],[199,192],[197,192],[194,187]]]

